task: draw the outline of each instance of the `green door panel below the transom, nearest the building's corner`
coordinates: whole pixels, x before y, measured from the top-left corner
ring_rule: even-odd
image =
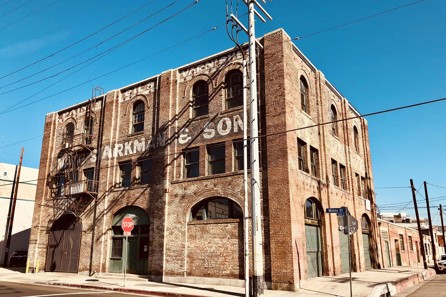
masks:
[[[305,225],[307,277],[322,276],[321,227]]]

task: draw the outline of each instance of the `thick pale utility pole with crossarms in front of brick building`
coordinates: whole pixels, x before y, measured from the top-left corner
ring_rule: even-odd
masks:
[[[252,296],[263,297],[262,224],[260,217],[259,120],[257,114],[256,33],[254,3],[248,6],[249,112],[251,121]]]

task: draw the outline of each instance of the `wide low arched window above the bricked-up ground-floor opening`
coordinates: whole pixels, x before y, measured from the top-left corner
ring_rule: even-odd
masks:
[[[192,207],[189,220],[242,219],[242,208],[231,199],[212,197]]]

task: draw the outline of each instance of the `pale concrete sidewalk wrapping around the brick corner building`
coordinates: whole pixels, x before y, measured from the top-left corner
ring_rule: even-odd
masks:
[[[123,293],[164,297],[244,297],[244,288],[222,285],[191,285],[153,281],[124,281],[85,277],[74,273],[28,273],[21,269],[0,268],[0,279],[37,285],[63,285],[75,288],[112,290]],[[402,292],[435,275],[434,269],[417,269],[399,266],[390,269],[372,269],[363,273],[352,273],[353,296],[379,297],[390,292]],[[265,290],[266,297],[322,297],[350,296],[348,273],[337,277],[314,277],[306,281],[298,292]]]

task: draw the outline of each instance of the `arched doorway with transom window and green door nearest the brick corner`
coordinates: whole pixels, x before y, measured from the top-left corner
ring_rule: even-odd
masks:
[[[305,201],[305,238],[307,257],[307,277],[322,276],[322,236],[321,213],[314,198]]]

